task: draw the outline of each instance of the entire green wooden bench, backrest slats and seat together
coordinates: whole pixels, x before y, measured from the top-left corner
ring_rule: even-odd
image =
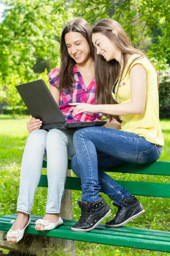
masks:
[[[46,167],[46,162],[43,162],[43,167]],[[68,161],[68,169],[71,169],[70,161]],[[114,167],[114,169],[108,168],[105,171],[170,176],[170,162],[154,162],[144,165],[122,163],[121,165]],[[133,195],[170,198],[170,183],[165,184],[124,180],[117,180],[117,182],[128,189]],[[48,186],[46,175],[41,175],[39,186]],[[76,177],[67,177],[65,189],[81,190],[80,179]],[[12,224],[10,221],[16,217],[17,215],[1,216],[0,231],[6,233],[11,228]],[[77,216],[77,219],[78,217],[79,216]],[[105,227],[104,224],[99,224],[94,230],[91,230],[88,233],[79,233],[71,231],[71,226],[74,225],[76,221],[65,219],[64,224],[55,230],[40,232],[34,228],[35,221],[38,218],[42,217],[31,215],[31,224],[26,229],[27,234],[170,252],[170,232],[167,231],[132,227],[110,228]]]

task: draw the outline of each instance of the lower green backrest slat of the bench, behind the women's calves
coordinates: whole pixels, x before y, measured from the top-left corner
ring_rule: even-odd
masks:
[[[143,195],[170,198],[170,184],[169,183],[153,183],[153,182],[139,182],[116,180],[121,186],[127,189],[132,195]],[[41,175],[38,186],[48,187],[47,176]],[[79,178],[67,177],[65,182],[65,189],[82,190]]]

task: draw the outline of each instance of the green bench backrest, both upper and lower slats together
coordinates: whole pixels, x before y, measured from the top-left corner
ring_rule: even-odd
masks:
[[[42,167],[47,167],[43,161]],[[71,169],[71,161],[68,160],[68,169]],[[170,162],[153,162],[147,164],[122,163],[103,170],[105,172],[121,172],[147,175],[166,175],[170,176]],[[121,186],[126,188],[132,195],[153,196],[170,198],[170,183],[153,183],[141,181],[116,180]],[[38,186],[48,187],[47,176],[41,175]],[[79,178],[67,177],[65,189],[82,190]]]

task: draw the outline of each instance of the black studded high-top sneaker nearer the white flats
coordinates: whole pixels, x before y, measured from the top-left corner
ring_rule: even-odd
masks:
[[[77,203],[82,210],[82,215],[77,224],[71,227],[73,231],[88,232],[94,229],[111,213],[110,207],[101,196],[96,202],[85,203],[77,201]]]

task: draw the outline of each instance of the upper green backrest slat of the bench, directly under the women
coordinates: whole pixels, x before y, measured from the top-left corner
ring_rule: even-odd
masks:
[[[47,167],[47,162],[43,161],[42,167]],[[71,160],[68,160],[68,169],[71,169]],[[156,161],[146,164],[122,163],[118,166],[102,169],[106,172],[122,172],[122,173],[136,173],[148,175],[167,175],[170,176],[170,163]]]

